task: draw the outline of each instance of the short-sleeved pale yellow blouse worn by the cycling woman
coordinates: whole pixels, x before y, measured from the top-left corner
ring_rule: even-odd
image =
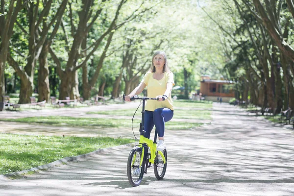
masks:
[[[172,82],[172,86],[174,85],[173,73],[165,72],[163,78],[157,80],[153,78],[152,72],[147,72],[141,82],[147,86],[147,97],[155,98],[156,96],[164,95],[165,91],[167,90],[168,82]],[[173,110],[171,94],[169,95],[168,99],[164,101],[147,100],[145,110],[154,111],[157,108],[163,107]]]

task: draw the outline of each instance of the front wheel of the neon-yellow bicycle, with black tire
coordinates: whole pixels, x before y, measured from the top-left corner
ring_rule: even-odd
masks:
[[[142,156],[142,148],[134,147],[129,154],[127,160],[127,178],[129,183],[135,187],[139,186],[142,182],[144,175],[144,161],[140,167],[140,161]]]

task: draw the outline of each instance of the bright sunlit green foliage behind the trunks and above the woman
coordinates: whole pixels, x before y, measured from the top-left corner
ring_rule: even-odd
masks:
[[[85,56],[93,49],[93,45],[98,38],[110,26],[120,0],[105,1],[95,0],[93,6],[90,7],[91,20],[101,9],[100,15],[95,20],[92,28],[88,31],[83,47],[78,47],[77,64],[81,63]],[[36,3],[36,2],[33,2]],[[61,1],[52,2],[47,24],[55,16]],[[231,17],[230,14],[234,10],[231,7],[225,7],[221,0],[200,1],[200,5],[213,17],[217,18],[226,30],[232,34],[241,32],[235,30],[236,23],[240,23],[237,17]],[[62,22],[58,28],[57,34],[51,44],[51,49],[57,55],[61,63],[61,68],[65,69],[69,60],[69,52],[73,48],[74,40],[80,17],[82,12],[82,1],[70,0],[65,9]],[[43,3],[39,4],[39,13],[44,9]],[[135,11],[137,10],[137,11]],[[135,11],[135,12],[134,12]],[[89,23],[91,22],[89,21]],[[28,57],[28,25],[29,17],[27,9],[22,9],[18,15],[13,36],[11,38],[10,53],[17,61],[20,67],[24,67]],[[219,78],[224,75],[222,68],[231,56],[226,56],[225,51],[230,50],[231,40],[223,35],[218,26],[207,17],[207,14],[199,7],[196,1],[181,0],[132,0],[126,1],[122,9],[116,25],[125,23],[122,27],[115,29],[113,40],[107,51],[106,58],[103,63],[102,70],[99,73],[98,80],[92,88],[91,95],[94,96],[99,91],[100,84],[106,80],[105,95],[110,95],[113,90],[115,77],[121,72],[123,64],[123,55],[126,51],[132,54],[132,60],[137,59],[137,63],[133,67],[123,69],[124,77],[130,80],[132,77],[142,78],[143,72],[146,72],[151,64],[151,55],[156,50],[166,51],[172,72],[175,75],[175,83],[184,86],[185,79],[183,70],[188,73],[186,85],[188,92],[199,89],[199,80],[201,74],[209,74],[212,78]],[[43,24],[41,23],[41,28]],[[53,26],[50,26],[49,35]],[[63,30],[64,29],[64,30]],[[245,36],[245,35],[244,35]],[[91,79],[97,69],[102,51],[106,44],[107,36],[101,41],[101,44],[95,50],[94,54],[87,62],[88,79]],[[84,50],[87,49],[87,50]],[[60,79],[57,75],[55,62],[52,56],[48,55],[49,62],[49,82],[51,96],[58,96]],[[35,70],[34,84],[37,86],[38,60]],[[71,69],[71,68],[68,68]],[[78,70],[79,91],[83,94],[82,71]],[[13,69],[5,69],[5,78],[7,83],[11,84],[11,88],[19,89],[20,82],[14,84]],[[20,80],[19,76],[16,76]],[[140,80],[140,79],[139,79]],[[138,80],[137,80],[138,81]],[[137,82],[136,81],[136,82]],[[123,91],[124,79],[120,84],[120,91]],[[69,85],[70,86],[70,85]],[[9,90],[10,91],[10,90]],[[15,92],[15,90],[11,90]]]

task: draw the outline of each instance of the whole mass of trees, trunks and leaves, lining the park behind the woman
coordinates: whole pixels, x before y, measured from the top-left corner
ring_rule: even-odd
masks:
[[[0,13],[0,94],[20,103],[117,98],[164,50],[186,97],[209,74],[242,101],[294,107],[292,0],[1,0]]]

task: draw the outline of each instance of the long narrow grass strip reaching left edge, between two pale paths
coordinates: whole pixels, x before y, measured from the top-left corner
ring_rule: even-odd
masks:
[[[83,126],[83,127],[100,127],[100,128],[128,128],[131,120],[125,119],[99,119],[99,118],[73,118],[66,116],[48,116],[48,117],[27,117],[18,119],[1,119],[6,122],[18,123],[42,123],[56,126]],[[140,120],[134,120],[133,126],[138,127]],[[203,123],[188,122],[169,122],[166,124],[167,129],[189,129],[200,126]]]

